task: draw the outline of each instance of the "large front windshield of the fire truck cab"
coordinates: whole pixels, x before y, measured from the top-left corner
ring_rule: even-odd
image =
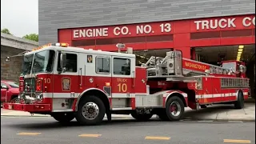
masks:
[[[54,50],[44,50],[34,54],[32,73],[50,73],[53,70],[54,56]]]

